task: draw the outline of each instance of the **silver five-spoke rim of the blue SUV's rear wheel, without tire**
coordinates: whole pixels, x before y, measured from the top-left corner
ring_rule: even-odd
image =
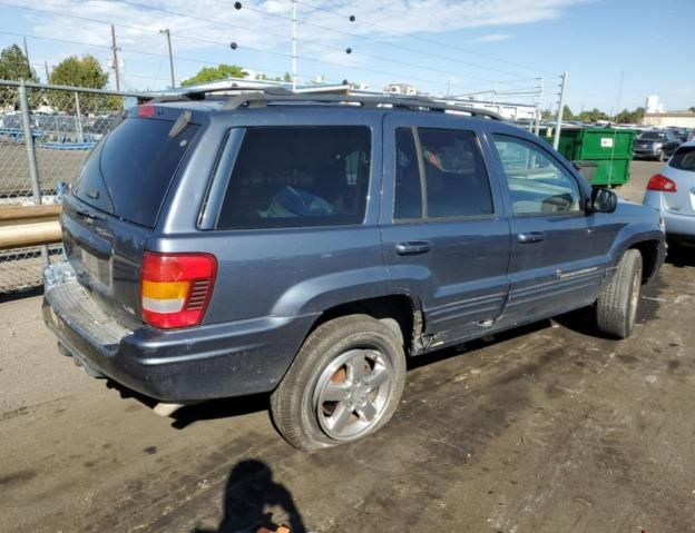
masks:
[[[351,441],[383,417],[392,393],[393,365],[380,351],[358,348],[339,355],[319,376],[314,409],[321,430]]]

